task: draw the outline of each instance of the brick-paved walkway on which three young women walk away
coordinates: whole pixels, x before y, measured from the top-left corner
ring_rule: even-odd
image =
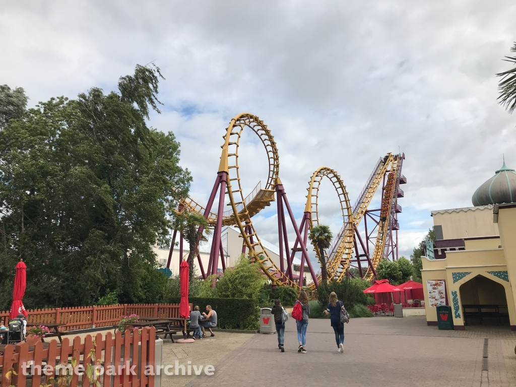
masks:
[[[276,334],[256,334],[217,363],[214,376],[188,386],[516,386],[516,335],[508,328],[439,331],[425,317],[352,319],[344,354],[328,320],[310,320],[305,354],[297,353],[295,328],[289,319],[284,353]]]

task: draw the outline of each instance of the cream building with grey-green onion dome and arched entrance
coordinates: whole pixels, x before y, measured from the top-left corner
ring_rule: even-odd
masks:
[[[436,241],[422,259],[427,323],[437,325],[436,307],[446,304],[455,329],[507,324],[516,330],[516,172],[504,163],[472,202],[431,213]]]

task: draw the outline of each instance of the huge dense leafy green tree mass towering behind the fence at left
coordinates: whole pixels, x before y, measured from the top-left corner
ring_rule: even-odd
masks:
[[[0,131],[0,306],[20,258],[29,308],[163,298],[152,246],[191,178],[174,135],[146,123],[159,76],[137,66],[118,93],[52,98]]]

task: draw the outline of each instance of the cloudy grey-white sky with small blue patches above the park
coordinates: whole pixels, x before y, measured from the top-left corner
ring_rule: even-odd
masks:
[[[502,165],[516,167],[516,116],[496,103],[495,73],[516,41],[510,1],[0,1],[0,84],[29,104],[74,98],[155,62],[161,115],[173,131],[191,196],[213,185],[224,128],[248,111],[270,128],[287,196],[302,215],[307,182],[331,167],[351,202],[379,157],[404,152],[400,250],[409,255],[433,209],[471,206]],[[265,151],[240,147],[245,191],[266,180]],[[322,185],[321,218],[336,232],[338,203]],[[276,214],[254,220],[277,243]]]

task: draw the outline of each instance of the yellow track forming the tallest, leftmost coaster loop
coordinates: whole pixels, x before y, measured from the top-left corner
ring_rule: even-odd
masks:
[[[259,183],[250,195],[244,197],[238,167],[238,147],[241,134],[246,127],[260,137],[267,152],[269,173],[263,189],[261,188],[261,183]],[[219,172],[224,171],[228,174],[225,193],[229,196],[230,203],[227,205],[231,206],[231,209],[224,212],[222,224],[236,225],[238,227],[240,236],[244,238],[249,255],[253,256],[260,263],[262,270],[272,281],[273,285],[287,285],[299,288],[297,284],[288,280],[286,276],[275,276],[276,273],[281,271],[271,260],[262,245],[251,220],[261,209],[269,206],[270,202],[275,200],[275,186],[279,183],[280,162],[274,137],[260,118],[249,113],[241,113],[231,120],[223,139],[224,145],[221,147],[222,154],[220,156]],[[182,208],[181,212],[187,208],[189,211],[196,211],[203,215],[205,209],[190,198],[182,199],[179,208]],[[178,211],[178,213],[180,212]],[[210,225],[214,227],[217,222],[217,214],[210,212],[207,219]],[[250,232],[246,232],[246,228],[250,229]],[[252,243],[251,238],[253,239]]]

